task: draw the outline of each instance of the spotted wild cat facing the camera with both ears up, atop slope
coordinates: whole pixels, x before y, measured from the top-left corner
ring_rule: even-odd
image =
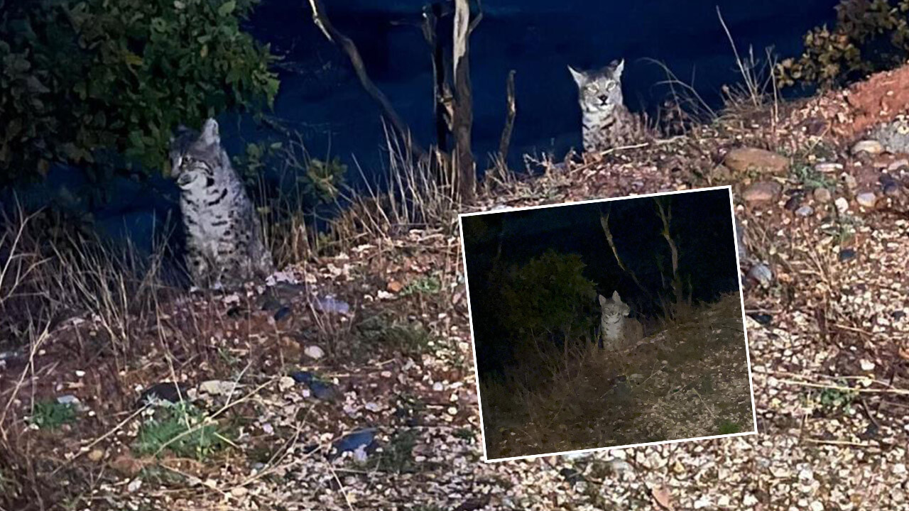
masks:
[[[623,103],[624,60],[595,71],[577,71],[570,65],[568,70],[578,88],[585,152],[632,144],[644,135],[641,119]]]

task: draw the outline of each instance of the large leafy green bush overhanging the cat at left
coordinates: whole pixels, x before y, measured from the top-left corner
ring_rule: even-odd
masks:
[[[0,0],[0,182],[166,171],[176,125],[270,106],[275,57],[240,27],[256,2]]]

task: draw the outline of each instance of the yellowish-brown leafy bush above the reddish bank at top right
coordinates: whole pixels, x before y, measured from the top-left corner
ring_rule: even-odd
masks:
[[[804,53],[776,65],[782,86],[829,87],[902,65],[909,56],[909,0],[841,0],[833,30],[804,35]]]

